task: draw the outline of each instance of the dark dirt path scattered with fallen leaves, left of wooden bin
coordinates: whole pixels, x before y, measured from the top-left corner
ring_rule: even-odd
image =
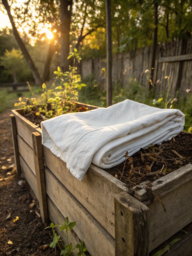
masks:
[[[0,114],[0,256],[55,255],[48,246],[51,233],[36,214],[38,203],[15,173],[9,114]]]

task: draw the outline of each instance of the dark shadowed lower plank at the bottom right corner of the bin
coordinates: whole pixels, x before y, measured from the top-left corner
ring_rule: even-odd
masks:
[[[186,233],[184,233],[184,230]],[[149,256],[153,256],[155,253],[170,245],[166,251],[166,256],[189,256],[192,254],[192,223],[184,227],[175,235],[166,240],[163,244],[155,248],[150,252]],[[175,239],[180,239],[174,244],[170,244]],[[165,253],[164,253],[165,254]],[[164,255],[163,254],[163,255]]]

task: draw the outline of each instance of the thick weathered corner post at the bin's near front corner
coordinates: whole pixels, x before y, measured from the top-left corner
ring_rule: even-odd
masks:
[[[115,256],[148,256],[149,208],[126,192],[114,200]]]

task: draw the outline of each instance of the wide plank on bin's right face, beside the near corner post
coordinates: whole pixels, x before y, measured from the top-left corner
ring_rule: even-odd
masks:
[[[192,222],[192,180],[170,191],[153,203],[149,208],[149,251],[152,251],[180,229]]]

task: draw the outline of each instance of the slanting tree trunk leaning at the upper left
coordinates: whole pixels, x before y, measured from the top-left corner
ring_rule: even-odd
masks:
[[[38,73],[35,65],[34,65],[33,60],[31,59],[31,57],[30,57],[30,55],[29,55],[29,53],[28,53],[28,51],[27,51],[23,41],[21,40],[21,37],[20,37],[18,31],[17,31],[17,28],[16,28],[15,23],[13,21],[13,17],[11,15],[10,6],[9,6],[7,0],[2,0],[2,3],[3,3],[3,5],[4,5],[4,7],[5,7],[6,11],[7,11],[7,14],[9,16],[9,20],[10,20],[12,28],[13,28],[13,32],[14,32],[15,38],[16,38],[16,40],[17,40],[17,42],[19,44],[19,47],[21,48],[21,51],[22,51],[22,53],[23,53],[23,55],[24,55],[28,65],[29,65],[29,68],[30,68],[30,70],[32,72],[32,75],[33,75],[33,78],[35,80],[35,83],[37,85],[40,85],[41,84],[41,78],[39,76],[39,73]]]

